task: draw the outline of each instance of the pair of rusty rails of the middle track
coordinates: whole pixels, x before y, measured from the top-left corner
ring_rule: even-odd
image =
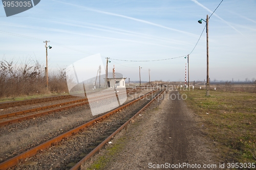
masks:
[[[140,89],[138,89],[138,90],[140,90]],[[134,92],[134,91],[137,91],[137,90],[126,91],[126,93]],[[119,93],[119,94],[122,94],[122,93]],[[101,98],[102,96],[106,97],[106,96],[109,96],[109,95],[112,95],[112,94],[108,94],[108,95],[104,94],[104,95],[100,95],[100,96],[95,96],[95,97],[93,97],[91,99],[97,99],[97,98]],[[106,98],[103,98],[103,99],[106,99]],[[39,108],[34,108],[34,109],[29,109],[29,110],[24,110],[24,111],[19,111],[19,112],[14,112],[14,113],[3,114],[3,115],[0,115],[0,118],[9,117],[9,116],[15,116],[15,115],[19,115],[19,114],[29,113],[29,112],[33,112],[33,111],[38,111],[38,110],[42,110],[42,109],[48,109],[48,108],[56,107],[56,106],[59,106],[59,105],[67,105],[67,104],[81,102],[81,101],[86,101],[86,102],[82,102],[82,103],[79,103],[79,104],[76,104],[76,105],[66,106],[66,107],[62,107],[62,108],[58,108],[58,109],[54,109],[54,110],[50,110],[50,111],[45,111],[45,112],[41,112],[41,113],[36,113],[36,114],[33,114],[33,115],[28,115],[28,116],[23,116],[23,117],[15,118],[15,119],[6,120],[4,122],[0,122],[0,127],[1,126],[5,126],[5,125],[9,125],[9,124],[18,123],[18,122],[21,122],[22,120],[27,120],[27,119],[32,119],[32,118],[35,118],[35,117],[39,117],[41,115],[47,115],[47,114],[55,113],[55,112],[58,112],[58,111],[70,109],[70,108],[73,108],[73,107],[76,107],[76,106],[86,105],[86,104],[89,104],[89,102],[88,102],[88,99],[85,98],[85,99],[81,99],[81,100],[77,100],[77,101],[71,101],[71,102],[66,102],[66,103],[61,103],[61,104],[56,104],[56,105],[44,106],[44,107],[39,107]],[[91,101],[91,102],[97,102],[97,101],[98,100],[94,100],[94,101]]]

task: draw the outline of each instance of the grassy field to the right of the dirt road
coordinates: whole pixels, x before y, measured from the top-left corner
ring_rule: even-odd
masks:
[[[226,162],[256,160],[256,94],[205,90],[181,91],[201,117],[200,126]]]

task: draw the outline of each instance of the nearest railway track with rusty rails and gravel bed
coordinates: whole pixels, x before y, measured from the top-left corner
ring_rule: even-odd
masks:
[[[160,90],[154,90],[147,95],[159,92]],[[141,96],[141,98],[138,98],[121,107],[118,107],[111,112],[103,114],[91,120],[90,122],[83,124],[75,129],[72,129],[66,133],[63,133],[47,142],[41,143],[37,145],[37,147],[32,148],[24,152],[23,154],[19,154],[5,162],[2,162],[0,163],[0,169],[7,169],[13,166],[19,166],[23,169],[26,169],[27,166],[37,166],[37,169],[40,169],[40,167],[43,166],[44,163],[46,163],[44,162],[44,160],[48,160],[49,155],[51,157],[51,160],[54,157],[54,161],[57,161],[57,163],[55,164],[56,166],[54,165],[54,167],[45,167],[46,165],[44,165],[44,167],[41,167],[41,169],[69,169],[70,166],[73,166],[72,169],[78,169],[83,161],[89,159],[92,155],[94,155],[100,148],[103,147],[106,142],[108,142],[123,127],[129,124],[129,122],[136,115],[138,115],[150,104],[148,100],[141,99],[145,99],[145,96]],[[154,101],[154,99],[152,99],[150,102]],[[143,106],[139,106],[139,102],[142,102]],[[135,105],[139,106],[137,110],[135,109]],[[136,110],[136,114],[134,109]],[[109,135],[105,136],[105,134]],[[76,145],[76,149],[74,149],[75,151],[67,151],[71,148],[70,145]],[[53,153],[50,152],[53,150],[55,150]],[[78,151],[80,153],[77,153]],[[65,161],[65,158],[61,160],[61,158],[54,156],[56,152],[58,152],[60,156],[64,154],[64,157],[66,157],[67,161]],[[84,157],[85,155],[86,157]],[[24,165],[22,162],[26,162],[25,164],[27,165]],[[50,166],[52,165],[53,164],[51,164]]]

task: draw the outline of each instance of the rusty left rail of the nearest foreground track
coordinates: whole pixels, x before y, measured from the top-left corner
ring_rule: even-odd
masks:
[[[105,114],[89,121],[86,124],[78,126],[74,129],[68,131],[68,132],[65,132],[65,133],[63,133],[59,136],[56,136],[56,137],[54,137],[54,138],[52,138],[52,139],[50,139],[50,140],[48,140],[48,141],[46,141],[42,144],[39,144],[36,147],[34,147],[34,148],[32,148],[32,149],[30,149],[30,150],[28,150],[28,151],[26,151],[22,154],[19,154],[19,155],[15,156],[15,157],[13,157],[9,160],[6,160],[6,161],[0,163],[0,170],[6,170],[6,169],[16,165],[20,160],[25,161],[26,158],[29,158],[31,156],[36,155],[38,151],[49,148],[52,145],[56,144],[57,142],[61,141],[62,139],[67,138],[67,137],[72,136],[72,135],[75,135],[76,133],[78,133],[82,129],[87,128],[88,126],[93,125],[94,123],[96,123],[96,122],[98,122],[98,121],[100,121],[100,120],[102,120],[106,117],[109,117],[111,114],[113,114],[113,113],[119,111],[120,109],[123,109],[123,108],[125,108],[129,105],[132,105],[133,103],[135,103],[135,102],[139,101],[140,99],[144,98],[146,95],[150,95],[151,93],[154,93],[155,91],[157,91],[157,89],[154,90],[154,91],[148,92],[147,94],[141,96],[140,98],[135,99],[135,100],[133,100],[133,101],[131,101],[131,102],[125,104],[125,105],[122,105],[122,106],[120,106],[120,107],[118,107],[118,108],[116,108],[116,109],[114,109],[114,110],[112,110],[108,113],[105,113]]]

